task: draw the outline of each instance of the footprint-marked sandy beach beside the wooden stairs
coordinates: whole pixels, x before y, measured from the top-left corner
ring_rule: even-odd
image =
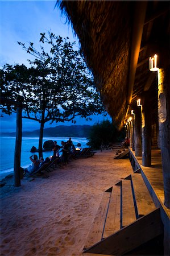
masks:
[[[1,256],[85,255],[103,192],[132,172],[128,159],[113,159],[116,151],[72,160],[48,179],[24,177],[21,187],[1,188]]]

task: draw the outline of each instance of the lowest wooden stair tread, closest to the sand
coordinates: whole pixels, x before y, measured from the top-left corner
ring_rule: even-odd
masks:
[[[96,217],[94,218],[92,228],[90,229],[84,248],[88,248],[102,239],[103,226],[105,225],[110,193],[111,192],[103,192],[101,203],[99,204]]]

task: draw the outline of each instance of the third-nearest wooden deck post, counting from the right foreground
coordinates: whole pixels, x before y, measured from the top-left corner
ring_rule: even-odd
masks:
[[[141,109],[140,107],[135,109],[135,123],[134,123],[134,144],[135,155],[142,156],[142,137],[141,137]]]

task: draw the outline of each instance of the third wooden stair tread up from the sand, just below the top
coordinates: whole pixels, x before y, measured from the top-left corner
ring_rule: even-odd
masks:
[[[122,226],[130,225],[136,220],[131,180],[122,180]]]

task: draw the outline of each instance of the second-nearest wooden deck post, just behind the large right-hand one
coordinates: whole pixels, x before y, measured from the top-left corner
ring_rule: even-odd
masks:
[[[151,111],[149,97],[147,94],[144,96],[142,106],[142,165],[151,166]]]

